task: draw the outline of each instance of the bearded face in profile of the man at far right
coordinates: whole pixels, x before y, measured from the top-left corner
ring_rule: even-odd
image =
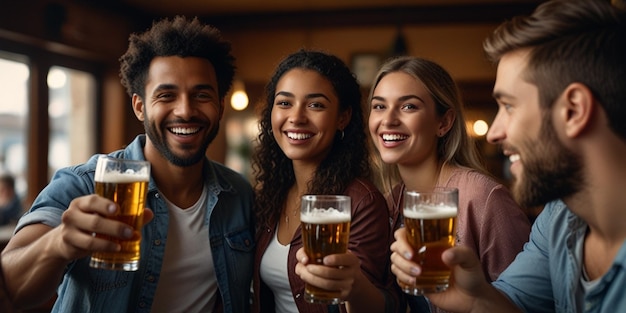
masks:
[[[537,86],[523,79],[527,53],[508,53],[498,64],[494,86],[498,113],[487,140],[502,145],[509,156],[515,199],[533,207],[571,195],[584,179],[580,157],[559,140],[551,112],[540,108]]]

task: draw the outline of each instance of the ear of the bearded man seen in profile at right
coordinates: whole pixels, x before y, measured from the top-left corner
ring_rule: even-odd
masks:
[[[579,136],[591,122],[595,106],[593,93],[584,84],[572,83],[565,88],[561,97],[564,101],[559,117],[564,123],[565,135]]]

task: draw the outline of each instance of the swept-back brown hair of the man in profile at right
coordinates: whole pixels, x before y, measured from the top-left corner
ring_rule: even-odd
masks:
[[[508,52],[530,49],[525,79],[540,87],[544,109],[569,84],[585,84],[606,111],[611,129],[626,140],[624,10],[608,0],[548,1],[530,16],[500,25],[483,47],[494,62]]]

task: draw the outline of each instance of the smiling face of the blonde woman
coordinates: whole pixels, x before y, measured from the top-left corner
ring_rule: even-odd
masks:
[[[370,102],[369,130],[382,160],[415,166],[436,160],[439,135],[448,127],[424,85],[404,72],[385,75]]]

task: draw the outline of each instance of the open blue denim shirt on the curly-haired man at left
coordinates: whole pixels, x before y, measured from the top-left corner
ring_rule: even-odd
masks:
[[[145,140],[145,135],[140,135],[127,148],[110,155],[145,160]],[[85,164],[55,173],[29,212],[19,220],[16,231],[33,223],[60,225],[61,215],[72,199],[94,193],[96,160],[97,156],[93,156]],[[249,312],[255,251],[253,190],[243,176],[210,160],[205,160],[203,174],[209,191],[205,223],[209,223],[221,303],[224,312]],[[53,312],[150,312],[168,244],[168,210],[152,178],[147,207],[155,215],[142,229],[139,270],[92,269],[88,257],[75,260],[66,268]]]

